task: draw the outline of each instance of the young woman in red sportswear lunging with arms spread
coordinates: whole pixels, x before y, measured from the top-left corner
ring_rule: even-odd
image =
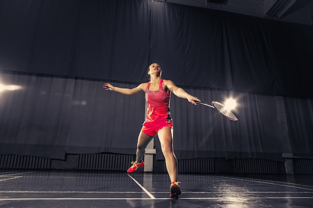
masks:
[[[200,100],[177,87],[172,81],[161,79],[162,71],[157,63],[152,63],[147,73],[150,81],[141,83],[132,89],[115,87],[109,83],[103,84],[103,88],[125,95],[145,92],[147,117],[138,136],[136,161],[132,162],[132,166],[128,168],[127,173],[133,173],[137,168],[143,167],[142,159],[145,148],[157,134],[165,158],[167,173],[172,182],[170,185],[170,198],[178,199],[181,192],[177,182],[177,160],[173,151],[173,122],[169,108],[170,93],[174,93],[179,98],[185,98],[194,105],[196,105],[195,101],[200,102]]]

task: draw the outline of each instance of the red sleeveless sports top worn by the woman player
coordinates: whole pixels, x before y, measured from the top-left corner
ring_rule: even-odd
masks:
[[[149,90],[150,82],[145,89],[145,101],[147,103],[146,122],[166,120],[167,123],[171,121],[170,117],[170,93],[167,93],[162,88],[163,79],[160,80],[159,89]]]

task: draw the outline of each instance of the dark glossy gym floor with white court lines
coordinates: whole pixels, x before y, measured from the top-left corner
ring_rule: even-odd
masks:
[[[312,208],[313,175],[0,170],[0,208]]]

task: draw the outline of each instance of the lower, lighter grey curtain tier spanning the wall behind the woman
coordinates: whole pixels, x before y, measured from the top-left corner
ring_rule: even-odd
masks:
[[[105,91],[101,80],[21,72],[2,72],[0,82],[0,154],[63,159],[66,153],[135,153],[144,93],[127,96]],[[312,100],[184,89],[207,103],[235,98],[238,121],[172,94],[177,158],[281,160],[281,153],[312,154]],[[162,159],[157,137],[155,141],[157,159]]]

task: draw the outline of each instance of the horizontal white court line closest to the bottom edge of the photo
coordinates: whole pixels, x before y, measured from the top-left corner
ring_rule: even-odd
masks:
[[[242,198],[240,198],[242,199]],[[244,200],[253,200],[253,199],[313,199],[313,197],[244,197]],[[173,200],[170,198],[16,198],[16,199],[0,199],[0,201],[39,201],[39,200],[57,200],[57,201],[65,201],[65,200]],[[179,200],[218,200],[218,201],[229,201],[229,198],[179,198]]]

